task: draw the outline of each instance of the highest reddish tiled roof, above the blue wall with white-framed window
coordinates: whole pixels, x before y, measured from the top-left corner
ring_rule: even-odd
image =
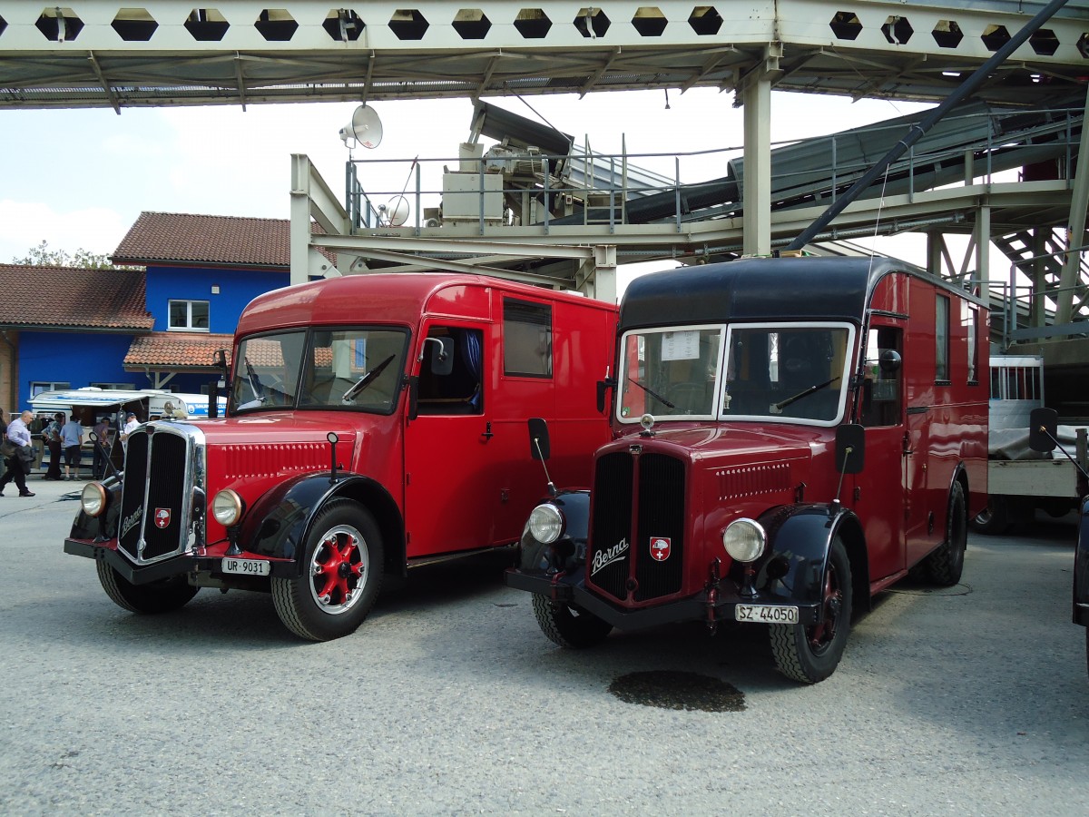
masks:
[[[118,248],[114,264],[217,264],[291,267],[286,219],[142,212]]]

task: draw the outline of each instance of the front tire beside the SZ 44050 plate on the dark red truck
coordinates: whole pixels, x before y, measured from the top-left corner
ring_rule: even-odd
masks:
[[[771,650],[779,671],[815,684],[835,672],[851,634],[851,561],[840,537],[829,548],[817,624],[771,624]]]

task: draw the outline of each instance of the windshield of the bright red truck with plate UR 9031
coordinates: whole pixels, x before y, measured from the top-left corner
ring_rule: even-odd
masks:
[[[238,344],[231,413],[290,407],[391,414],[406,340],[406,332],[394,329],[311,329],[246,338]]]

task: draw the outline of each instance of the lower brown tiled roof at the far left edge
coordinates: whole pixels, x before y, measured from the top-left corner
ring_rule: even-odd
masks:
[[[0,327],[147,332],[144,270],[0,264]]]

